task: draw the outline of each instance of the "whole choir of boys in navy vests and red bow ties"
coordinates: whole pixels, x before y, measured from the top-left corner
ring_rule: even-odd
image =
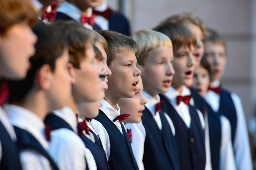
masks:
[[[129,35],[106,0],[0,0],[0,169],[252,170],[225,40],[190,13]]]

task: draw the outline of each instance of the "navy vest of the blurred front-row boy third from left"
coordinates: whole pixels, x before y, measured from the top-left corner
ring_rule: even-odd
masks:
[[[67,128],[73,131],[73,129],[65,120],[61,119],[59,116],[56,116],[55,114],[48,114],[44,122],[50,124],[53,130],[59,128]],[[107,170],[108,165],[104,151],[96,143],[93,143],[86,136],[82,135],[81,139],[84,142],[86,148],[88,148],[92,152],[93,158],[96,162],[97,169]],[[88,166],[86,165],[86,169],[87,168]]]

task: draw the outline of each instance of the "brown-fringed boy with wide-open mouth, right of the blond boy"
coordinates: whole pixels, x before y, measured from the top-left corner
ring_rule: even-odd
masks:
[[[193,83],[196,64],[196,38],[186,27],[174,23],[159,25],[154,30],[167,35],[173,44],[175,74],[169,91],[160,97],[165,101],[164,111],[174,124],[180,167],[204,170],[204,118],[190,105],[191,92],[188,89]]]

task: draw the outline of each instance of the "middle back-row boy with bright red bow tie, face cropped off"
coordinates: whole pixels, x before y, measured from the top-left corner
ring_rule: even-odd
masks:
[[[98,1],[93,0],[64,0],[57,9],[55,20],[75,20],[88,29],[100,30],[97,24],[94,24],[95,15],[92,14],[92,8],[100,5]]]

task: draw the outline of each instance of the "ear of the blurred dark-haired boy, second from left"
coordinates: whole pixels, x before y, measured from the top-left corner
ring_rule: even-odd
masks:
[[[52,73],[51,67],[47,64],[43,65],[37,73],[37,83],[40,89],[48,90],[51,87]]]

